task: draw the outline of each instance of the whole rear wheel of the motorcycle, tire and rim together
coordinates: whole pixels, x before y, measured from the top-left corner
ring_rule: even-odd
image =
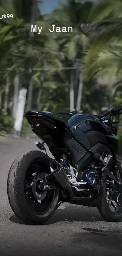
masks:
[[[39,182],[50,174],[50,158],[41,151],[29,151],[17,157],[8,174],[7,193],[12,211],[27,224],[47,221],[58,208],[59,192],[42,191]]]

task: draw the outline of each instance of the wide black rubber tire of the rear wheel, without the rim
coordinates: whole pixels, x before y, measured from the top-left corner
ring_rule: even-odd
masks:
[[[42,153],[40,151],[29,151],[26,152],[24,155],[17,157],[12,163],[7,181],[8,200],[12,211],[22,222],[25,222],[27,224],[41,224],[47,221],[49,218],[51,218],[55,210],[58,208],[59,202],[60,189],[59,187],[57,187],[53,192],[50,192],[54,193],[54,195],[52,197],[51,203],[47,203],[49,205],[47,211],[37,213],[31,209],[30,206],[32,203],[28,205],[26,200],[27,196],[25,196],[24,190],[25,177],[28,168],[30,168],[31,164],[33,164],[35,161],[38,161],[38,163],[41,163],[40,161],[44,162],[47,165],[45,171],[48,170],[49,173],[49,165],[51,159],[45,153]],[[48,197],[50,197],[50,195]],[[36,202],[36,204],[39,204],[37,199],[35,199],[34,202]]]

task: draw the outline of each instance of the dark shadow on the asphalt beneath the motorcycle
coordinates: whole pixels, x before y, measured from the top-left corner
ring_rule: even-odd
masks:
[[[73,207],[73,206],[66,206],[64,209],[57,209],[54,213],[54,215],[43,225],[50,225],[54,224],[60,221],[66,221],[66,222],[99,222],[104,221],[104,219],[101,217],[99,212],[96,210],[94,212],[93,208],[88,208],[89,211],[81,207]],[[94,216],[94,217],[93,217]],[[15,215],[11,216],[10,221],[18,223],[18,224],[24,224],[21,222]]]

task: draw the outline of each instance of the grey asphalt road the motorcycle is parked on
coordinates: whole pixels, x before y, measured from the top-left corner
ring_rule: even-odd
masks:
[[[122,255],[122,222],[105,222],[95,207],[61,204],[44,225],[26,225],[14,215],[7,197],[8,171],[18,155],[37,149],[34,142],[0,138],[0,255]]]

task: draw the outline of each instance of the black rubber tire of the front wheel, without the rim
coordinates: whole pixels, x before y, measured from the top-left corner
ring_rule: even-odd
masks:
[[[114,214],[110,210],[110,207],[108,206],[107,199],[106,199],[106,182],[107,182],[107,177],[104,179],[103,185],[101,185],[101,188],[99,191],[99,197],[98,197],[99,203],[98,203],[97,209],[101,214],[101,216],[107,222],[121,222],[122,221],[122,205],[120,207],[120,211],[118,211],[117,214]]]

